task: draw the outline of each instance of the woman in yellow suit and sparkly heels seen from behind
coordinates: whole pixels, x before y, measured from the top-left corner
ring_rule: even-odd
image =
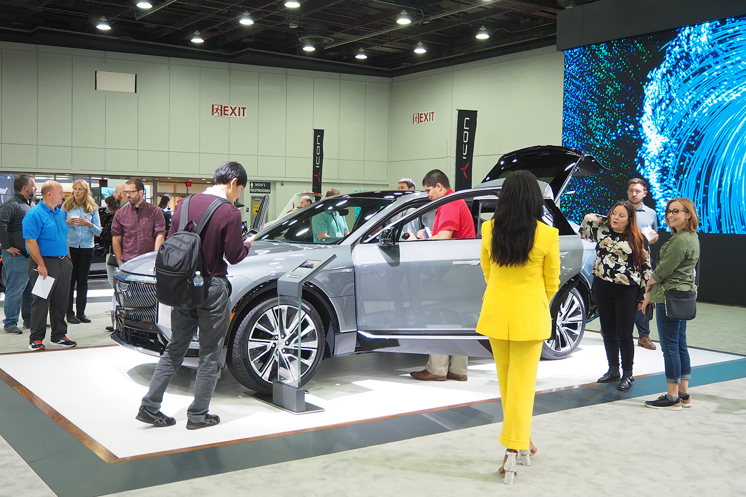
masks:
[[[503,405],[500,443],[505,484],[518,462],[530,465],[531,416],[542,344],[551,332],[549,303],[560,284],[560,233],[542,222],[544,199],[529,171],[505,179],[492,221],[482,225],[487,282],[477,333],[489,337]],[[530,450],[532,449],[532,450]]]

